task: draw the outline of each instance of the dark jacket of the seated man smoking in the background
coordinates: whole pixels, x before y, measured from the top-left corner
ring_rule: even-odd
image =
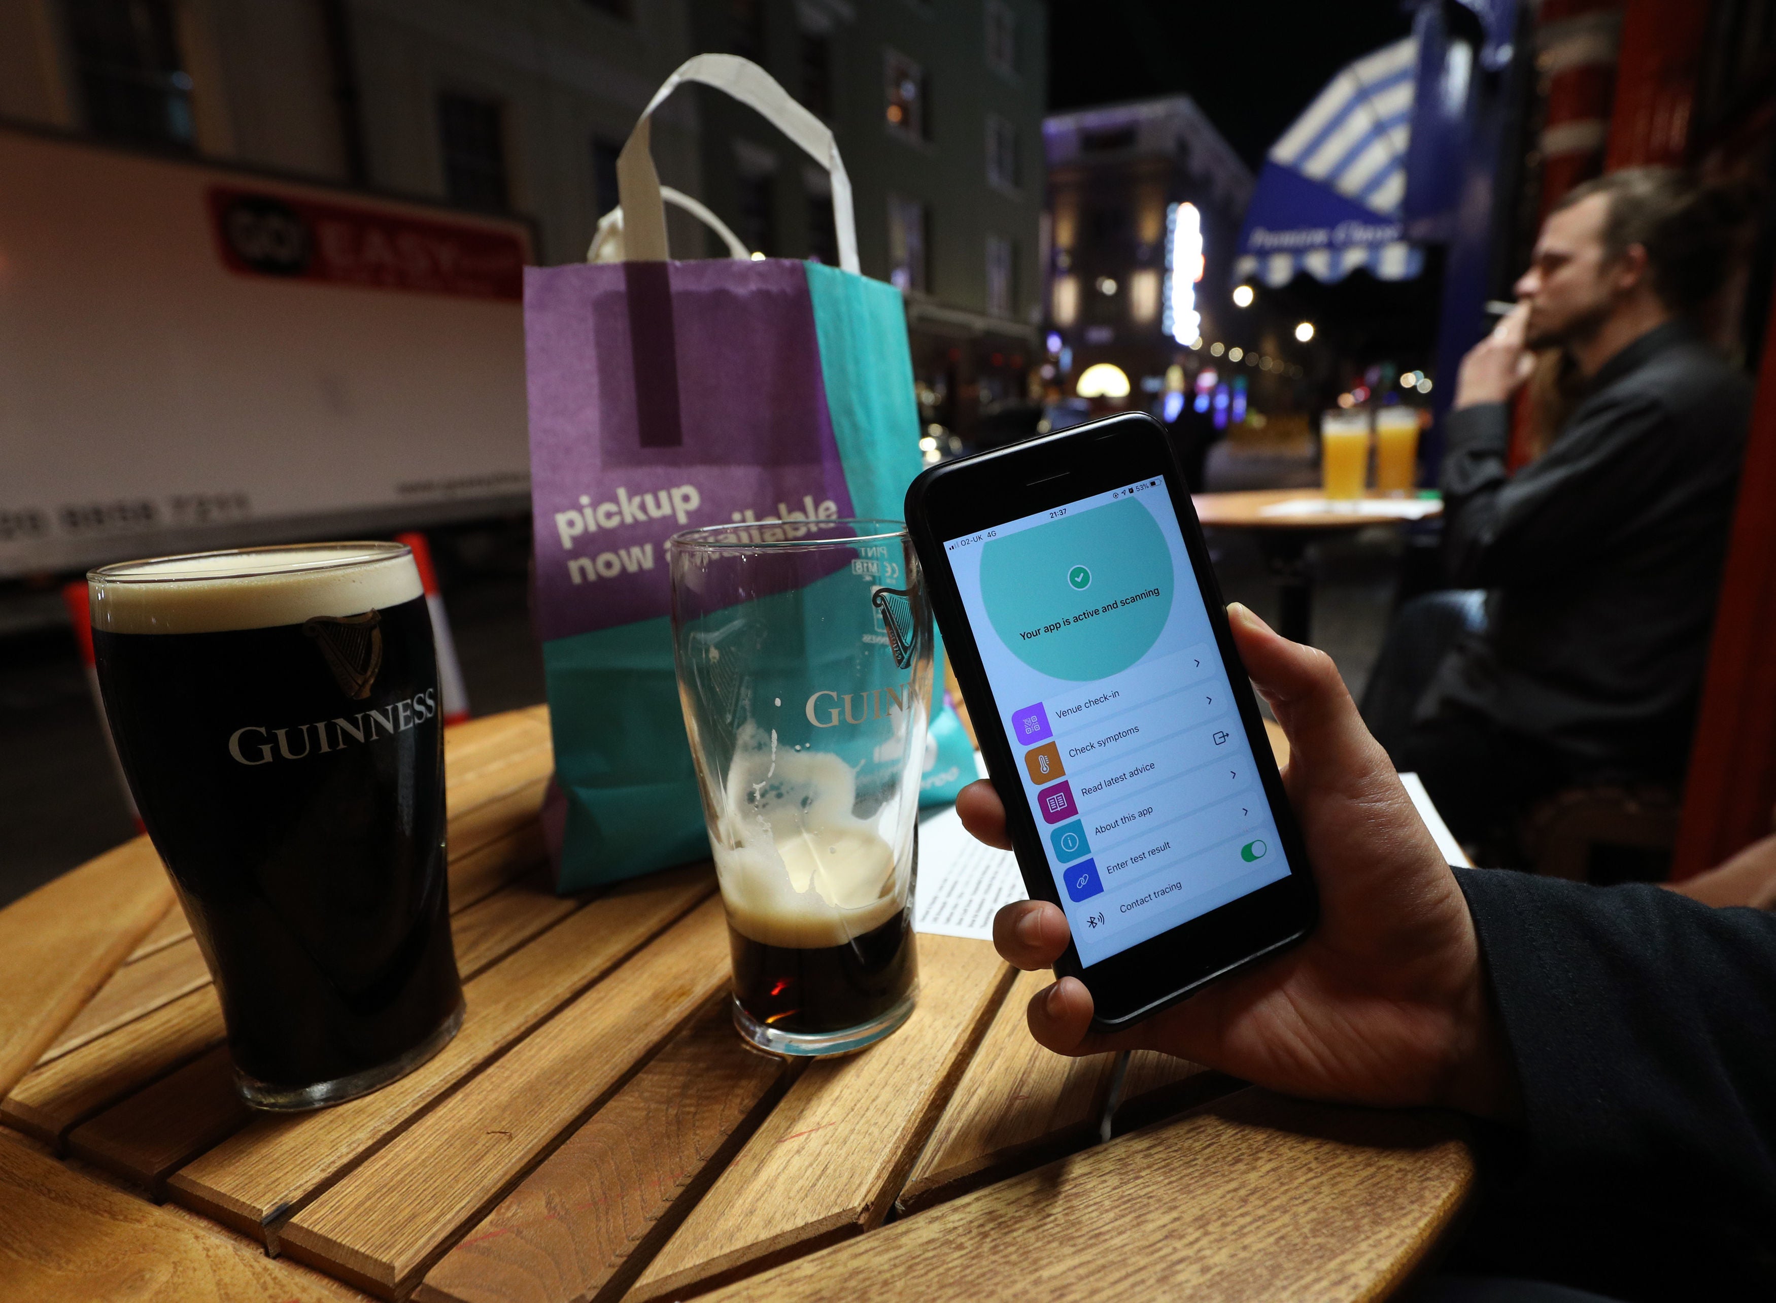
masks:
[[[1453,703],[1581,769],[1682,774],[1749,412],[1751,383],[1677,321],[1606,362],[1515,476],[1506,405],[1451,412],[1446,556],[1488,589],[1487,630],[1419,717]]]

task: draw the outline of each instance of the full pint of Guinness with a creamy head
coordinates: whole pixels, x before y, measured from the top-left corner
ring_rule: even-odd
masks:
[[[432,621],[400,543],[87,577],[105,714],[254,1108],[362,1095],[462,1023]]]

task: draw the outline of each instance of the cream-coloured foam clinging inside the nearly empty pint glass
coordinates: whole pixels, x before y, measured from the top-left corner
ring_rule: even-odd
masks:
[[[742,730],[714,838],[739,932],[767,946],[842,946],[906,907],[893,847],[852,813],[856,792],[840,756]]]

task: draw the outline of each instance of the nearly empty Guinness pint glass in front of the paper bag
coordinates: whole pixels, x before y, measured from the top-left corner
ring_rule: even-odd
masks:
[[[913,1012],[931,609],[899,520],[675,534],[673,646],[733,1021],[844,1054]]]

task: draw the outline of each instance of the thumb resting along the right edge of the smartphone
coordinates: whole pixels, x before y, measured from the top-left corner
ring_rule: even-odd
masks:
[[[1291,643],[1238,602],[1227,607],[1227,625],[1247,675],[1289,738],[1291,776],[1312,786],[1346,786],[1376,767],[1392,772],[1332,657]]]

